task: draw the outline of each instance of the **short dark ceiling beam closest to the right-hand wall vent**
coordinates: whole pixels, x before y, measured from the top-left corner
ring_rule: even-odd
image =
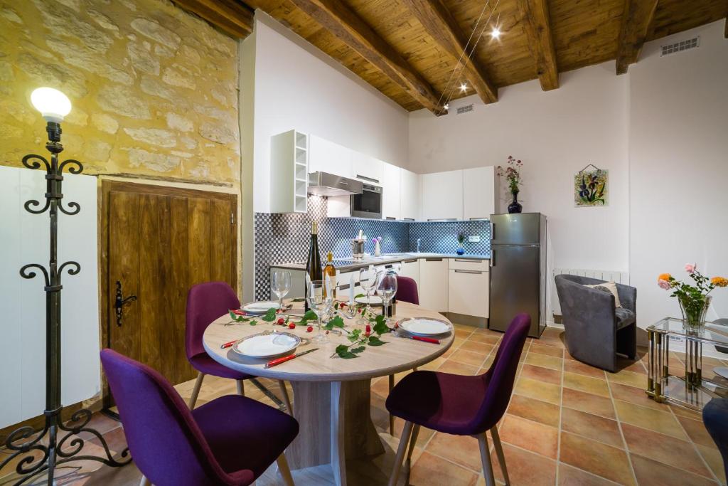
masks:
[[[625,0],[617,47],[617,74],[625,74],[630,64],[637,62],[657,10],[657,1]]]

